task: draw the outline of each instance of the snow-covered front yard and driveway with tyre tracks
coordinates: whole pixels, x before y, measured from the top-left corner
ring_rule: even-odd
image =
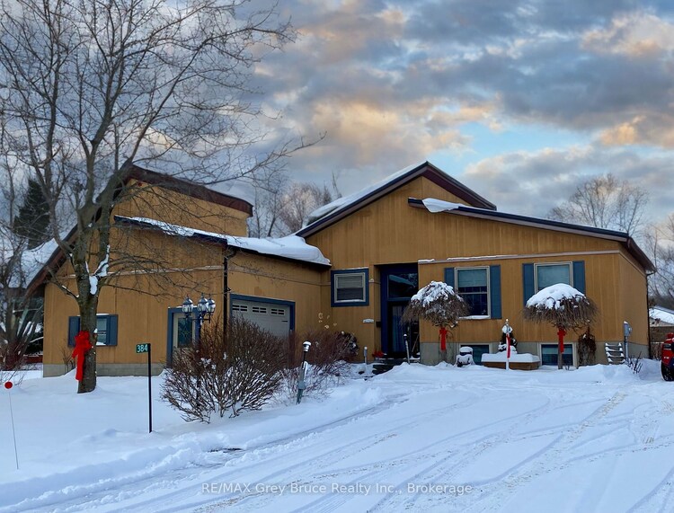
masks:
[[[674,385],[657,362],[396,367],[322,401],[185,423],[146,378],[0,389],[0,512],[670,511]]]

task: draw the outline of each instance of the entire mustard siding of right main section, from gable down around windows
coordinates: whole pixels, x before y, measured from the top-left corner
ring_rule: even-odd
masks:
[[[419,264],[420,287],[431,279],[444,279],[447,267],[501,265],[502,319],[463,321],[454,332],[457,341],[498,341],[501,326],[508,317],[520,341],[554,343],[557,338],[552,326],[525,325],[521,320],[522,264],[554,261],[585,261],[587,294],[601,309],[599,321],[593,328],[598,342],[622,340],[624,317],[630,323],[635,319],[634,342],[648,340],[643,269],[620,243],[493,219],[432,214],[423,208],[410,207],[407,202],[410,197],[457,201],[447,191],[420,177],[306,239],[307,243],[321,248],[332,261],[333,270],[368,267],[369,305],[331,309],[329,273],[322,279],[322,310],[330,312],[337,329],[356,333],[361,348],[368,346],[371,352],[381,346],[380,328],[363,324],[364,319],[381,321],[377,266],[427,260],[436,262]],[[489,255],[503,258],[490,260]],[[519,255],[521,258],[517,258]],[[474,260],[447,261],[452,258]],[[643,320],[636,320],[637,317]],[[569,337],[575,341],[577,335],[570,333]],[[421,341],[437,340],[437,330],[422,323]],[[598,349],[598,356],[600,354]]]

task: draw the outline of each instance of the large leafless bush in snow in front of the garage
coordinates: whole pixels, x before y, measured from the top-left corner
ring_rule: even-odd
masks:
[[[219,323],[205,325],[199,349],[174,353],[162,398],[189,421],[259,410],[279,389],[287,360],[287,345],[257,324],[235,316],[226,337]]]

